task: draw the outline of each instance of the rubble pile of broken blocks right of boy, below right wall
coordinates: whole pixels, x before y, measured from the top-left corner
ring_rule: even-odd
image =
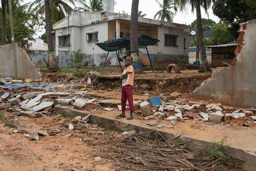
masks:
[[[229,125],[245,126],[256,124],[256,109],[237,109],[214,102],[192,101],[181,98],[181,93],[163,94],[158,99],[149,98],[139,104],[145,120],[151,120],[148,125],[158,125],[158,120],[177,122],[218,122]],[[158,125],[158,128],[164,125]]]

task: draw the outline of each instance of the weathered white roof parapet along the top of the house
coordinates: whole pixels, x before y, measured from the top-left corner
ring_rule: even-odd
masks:
[[[113,12],[89,12],[89,11],[78,11],[72,10],[72,13],[66,18],[54,23],[53,30],[66,27],[83,27],[86,25],[92,25],[95,23],[108,22],[110,20],[130,20],[130,15],[117,14]],[[140,23],[150,23],[153,25],[164,25],[167,27],[177,27],[177,28],[188,28],[187,25],[179,23],[164,22],[160,20],[147,19],[139,17]]]

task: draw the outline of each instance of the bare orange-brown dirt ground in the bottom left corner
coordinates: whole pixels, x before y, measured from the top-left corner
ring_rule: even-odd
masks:
[[[101,135],[87,136],[85,133],[61,128],[61,117],[49,116],[39,119],[16,117],[5,112],[8,120],[13,120],[17,128],[0,124],[0,170],[114,170],[111,162],[102,159],[96,162],[93,157],[101,151]],[[59,128],[61,133],[53,136],[40,136],[40,140],[30,141],[23,135],[34,129],[50,130]],[[14,133],[15,130],[20,131]],[[67,137],[72,133],[71,137]],[[87,143],[84,140],[92,139]],[[98,141],[97,141],[98,140]],[[20,144],[21,143],[21,144]],[[40,157],[40,160],[30,151]]]

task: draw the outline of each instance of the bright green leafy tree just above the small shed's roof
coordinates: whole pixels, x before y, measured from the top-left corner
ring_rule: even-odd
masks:
[[[213,36],[211,39],[212,44],[226,44],[231,41],[233,41],[233,36],[228,30],[228,27],[220,24],[216,24],[213,27]]]

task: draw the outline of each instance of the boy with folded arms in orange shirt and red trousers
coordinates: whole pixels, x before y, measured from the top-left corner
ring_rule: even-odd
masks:
[[[134,86],[134,67],[132,67],[133,59],[130,56],[126,57],[126,68],[124,72],[122,72],[121,80],[122,80],[122,97],[121,97],[121,106],[122,106],[122,114],[117,115],[117,118],[126,117],[126,101],[129,102],[130,107],[130,115],[127,117],[127,120],[134,119],[134,100],[132,97],[132,87]]]

